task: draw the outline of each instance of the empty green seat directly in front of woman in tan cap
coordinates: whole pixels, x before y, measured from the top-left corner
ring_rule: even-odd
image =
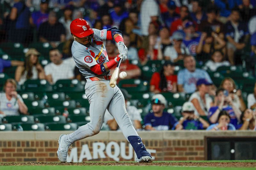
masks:
[[[52,86],[46,80],[27,80],[22,86],[25,92],[52,92]]]

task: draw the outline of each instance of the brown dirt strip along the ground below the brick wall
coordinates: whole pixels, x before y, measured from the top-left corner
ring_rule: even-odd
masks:
[[[83,162],[83,163],[0,163],[0,166],[45,166],[45,165],[62,165],[62,166],[211,166],[211,167],[256,167],[256,162],[152,162],[152,163],[135,163],[135,162]]]

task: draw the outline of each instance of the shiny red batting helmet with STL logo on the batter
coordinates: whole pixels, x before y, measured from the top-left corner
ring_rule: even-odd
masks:
[[[74,19],[70,24],[70,32],[78,38],[83,38],[93,33],[88,22],[81,18]]]

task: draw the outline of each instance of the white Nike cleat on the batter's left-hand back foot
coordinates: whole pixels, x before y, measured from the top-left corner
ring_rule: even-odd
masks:
[[[59,140],[58,140],[59,148],[58,148],[58,151],[57,151],[57,155],[58,155],[58,159],[60,160],[60,162],[66,162],[67,156],[68,156],[68,148],[70,148],[70,150],[72,149],[63,140],[64,135],[65,134],[61,134],[60,137],[59,137]]]

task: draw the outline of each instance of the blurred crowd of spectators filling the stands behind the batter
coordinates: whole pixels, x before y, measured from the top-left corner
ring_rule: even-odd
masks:
[[[35,48],[26,51],[23,61],[0,59],[0,72],[17,66],[13,79],[18,85],[28,79],[46,79],[52,85],[59,79],[84,80],[71,56],[74,40],[69,30],[73,19],[84,18],[92,28],[117,27],[122,31],[128,60],[120,70],[126,71],[126,79],[143,78],[139,66],[164,60],[149,83],[150,92],[158,96],[152,99],[153,112],[145,117],[145,129],[255,130],[256,84],[246,106],[232,78],[223,79],[217,87],[208,74],[221,66],[243,64],[244,71],[255,77],[253,0],[2,0],[0,5],[1,42],[19,42],[25,47],[42,42],[52,47],[50,63],[45,66],[39,62],[42,55]],[[111,60],[118,54],[116,44],[104,44]],[[133,60],[139,64],[132,64]],[[178,73],[175,66],[181,68]],[[14,80],[4,85],[6,94],[1,93],[2,115],[6,114],[4,100],[13,100],[13,107],[19,106],[20,113],[27,114],[22,98],[15,93]],[[162,92],[190,94],[179,121],[164,112],[166,101],[157,94]],[[136,108],[127,106],[127,112],[134,114],[133,125],[141,129]],[[200,116],[207,116],[211,125]],[[106,124],[112,130],[118,129],[111,115]]]

